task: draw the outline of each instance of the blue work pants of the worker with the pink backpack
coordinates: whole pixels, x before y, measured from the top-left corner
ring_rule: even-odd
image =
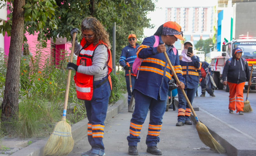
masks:
[[[130,123],[130,135],[127,136],[128,145],[137,146],[137,143],[140,142],[139,135],[142,124],[147,117],[148,110],[150,110],[146,144],[148,147],[157,146],[157,143],[160,141],[159,134],[162,129],[162,119],[166,110],[166,100],[155,100],[138,90],[134,90],[134,97],[136,105]]]

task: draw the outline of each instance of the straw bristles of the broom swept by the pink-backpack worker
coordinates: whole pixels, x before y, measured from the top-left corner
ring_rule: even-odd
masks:
[[[198,132],[199,138],[201,139],[201,141],[208,147],[210,147],[211,149],[213,149],[216,152],[219,153],[225,153],[225,149],[223,146],[221,146],[221,144],[219,144],[210,134],[208,128],[202,124],[201,122],[197,122],[196,123],[196,130]]]

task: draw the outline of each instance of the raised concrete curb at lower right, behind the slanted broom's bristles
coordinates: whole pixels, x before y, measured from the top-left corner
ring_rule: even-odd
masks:
[[[191,114],[192,115],[192,114]],[[255,156],[256,139],[220,120],[200,108],[198,119],[208,128],[211,135],[220,141],[228,156]],[[193,115],[192,115],[193,116]],[[194,117],[192,121],[196,123]]]

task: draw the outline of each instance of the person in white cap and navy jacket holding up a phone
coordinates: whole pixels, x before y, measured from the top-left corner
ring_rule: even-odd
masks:
[[[188,48],[193,47],[192,41],[186,41],[184,43],[184,49],[181,53],[182,60],[180,65],[182,66],[183,77],[186,79],[185,93],[187,94],[190,103],[192,104],[195,92],[198,87],[198,72],[201,69],[201,63],[198,56],[188,52]],[[191,109],[182,93],[182,90],[178,88],[179,98],[179,110],[178,110],[178,122],[176,126],[183,126],[184,124],[192,125],[190,121]]]

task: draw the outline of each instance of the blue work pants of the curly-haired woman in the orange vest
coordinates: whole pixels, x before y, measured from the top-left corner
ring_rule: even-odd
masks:
[[[104,79],[94,81],[93,85],[98,85]],[[99,88],[94,88],[91,101],[85,101],[85,108],[88,122],[88,141],[91,145],[92,153],[100,156],[104,154],[103,134],[104,121],[107,115],[108,100],[111,88],[109,82],[105,82]]]

